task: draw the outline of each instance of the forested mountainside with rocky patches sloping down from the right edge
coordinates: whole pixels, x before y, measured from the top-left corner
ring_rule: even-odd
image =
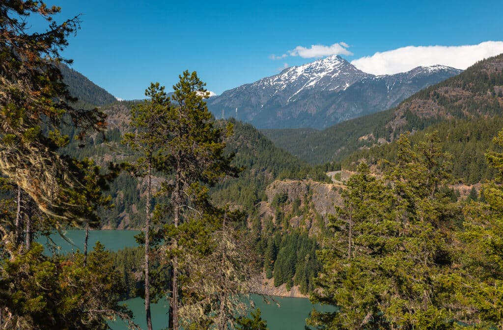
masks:
[[[454,175],[469,183],[491,177],[484,159],[503,125],[503,54],[480,61],[457,76],[430,86],[395,108],[324,130],[263,130],[273,142],[310,163],[391,157],[401,133],[420,141],[438,131],[453,154]],[[348,158],[349,157],[349,158]]]

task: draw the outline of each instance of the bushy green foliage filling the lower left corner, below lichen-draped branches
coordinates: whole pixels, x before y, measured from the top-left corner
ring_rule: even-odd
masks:
[[[118,304],[120,275],[99,242],[83,266],[83,255],[45,257],[34,243],[10,250],[0,262],[2,326],[23,329],[107,329],[107,320],[132,316]]]

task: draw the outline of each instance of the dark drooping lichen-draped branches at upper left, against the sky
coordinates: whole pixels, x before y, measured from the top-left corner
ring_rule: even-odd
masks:
[[[38,208],[60,219],[74,220],[68,192],[78,187],[70,158],[58,150],[67,143],[60,134],[73,126],[76,135],[103,128],[104,114],[97,109],[75,109],[61,81],[60,55],[67,37],[79,27],[78,17],[58,24],[60,8],[42,2],[15,0],[0,4],[0,171],[21,187]],[[45,31],[32,28],[32,18],[47,22]],[[42,28],[43,29],[43,28]],[[69,124],[71,123],[71,124]]]

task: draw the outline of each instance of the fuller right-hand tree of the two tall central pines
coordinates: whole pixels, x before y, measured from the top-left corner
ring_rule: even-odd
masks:
[[[164,134],[164,151],[157,169],[173,175],[174,180],[162,185],[162,193],[170,200],[173,224],[167,227],[165,241],[169,243],[168,259],[172,266],[170,294],[170,329],[178,329],[179,320],[179,257],[188,253],[179,244],[184,230],[192,230],[189,219],[211,213],[208,188],[226,175],[236,176],[238,169],[230,166],[231,156],[224,155],[224,138],[232,133],[232,125],[225,130],[215,128],[204,98],[208,92],[196,72],[185,71],[174,86],[168,123]],[[192,221],[196,224],[196,221]],[[186,224],[185,227],[181,227]],[[187,236],[186,236],[187,237]],[[186,238],[183,238],[184,241]],[[188,243],[188,242],[187,242]],[[183,261],[183,260],[182,260]]]

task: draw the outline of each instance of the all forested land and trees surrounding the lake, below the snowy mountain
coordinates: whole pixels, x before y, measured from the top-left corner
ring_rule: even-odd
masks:
[[[118,101],[69,67],[81,17],[60,14],[0,2],[0,329],[139,329],[141,297],[148,330],[265,330],[251,294],[330,306],[312,329],[503,329],[503,54],[383,112],[260,131],[215,119],[196,71]],[[68,229],[83,249],[58,253]],[[102,229],[140,233],[88,246]]]

